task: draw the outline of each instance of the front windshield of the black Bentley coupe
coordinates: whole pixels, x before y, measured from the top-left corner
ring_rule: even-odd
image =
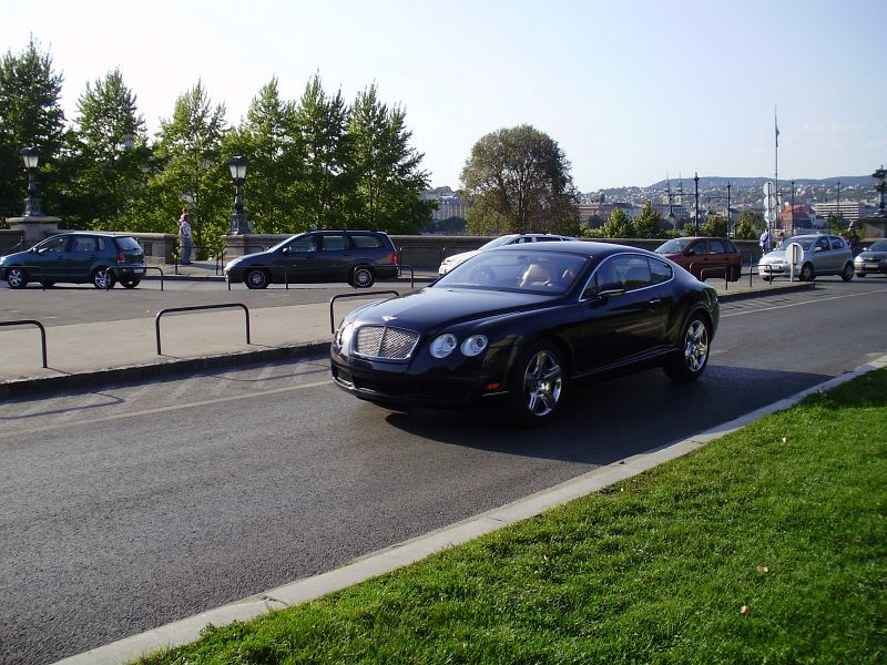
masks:
[[[481,252],[435,283],[437,287],[565,294],[587,257],[557,252]]]

